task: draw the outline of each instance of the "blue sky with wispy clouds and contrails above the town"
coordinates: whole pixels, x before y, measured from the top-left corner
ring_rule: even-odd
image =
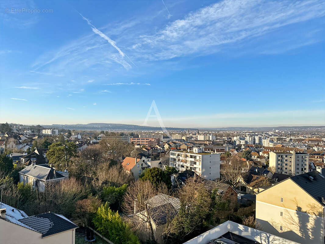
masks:
[[[141,125],[155,100],[166,127],[324,125],[324,16],[319,0],[3,1],[0,122]]]

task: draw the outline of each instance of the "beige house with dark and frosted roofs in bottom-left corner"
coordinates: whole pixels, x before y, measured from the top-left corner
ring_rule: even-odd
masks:
[[[0,243],[75,244],[78,225],[63,215],[47,212],[29,217],[7,204],[0,206]]]

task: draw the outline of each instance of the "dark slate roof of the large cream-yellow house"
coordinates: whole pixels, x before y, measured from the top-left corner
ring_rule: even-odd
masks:
[[[325,203],[322,202],[322,198],[325,199],[325,176],[315,170],[292,176],[290,179],[304,189],[310,196],[315,198],[320,204],[325,206]]]

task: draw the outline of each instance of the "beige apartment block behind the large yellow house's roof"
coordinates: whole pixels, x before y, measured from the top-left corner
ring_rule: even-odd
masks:
[[[299,175],[309,171],[309,155],[306,153],[269,152],[269,167],[274,167],[276,173]]]

